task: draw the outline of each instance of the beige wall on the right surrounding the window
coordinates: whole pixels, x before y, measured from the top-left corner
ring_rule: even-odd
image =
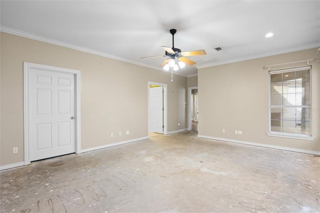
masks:
[[[269,123],[268,70],[263,69],[266,65],[312,59],[316,52],[317,48],[311,48],[199,69],[198,134],[320,151],[319,60],[311,62],[313,141],[266,135]],[[243,134],[236,135],[234,130],[242,130]]]

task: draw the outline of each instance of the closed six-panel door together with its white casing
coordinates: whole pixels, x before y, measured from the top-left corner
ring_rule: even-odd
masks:
[[[24,164],[80,152],[80,71],[24,62]]]

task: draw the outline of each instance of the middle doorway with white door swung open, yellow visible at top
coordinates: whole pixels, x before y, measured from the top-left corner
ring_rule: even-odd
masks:
[[[166,84],[148,82],[149,137],[166,134]]]

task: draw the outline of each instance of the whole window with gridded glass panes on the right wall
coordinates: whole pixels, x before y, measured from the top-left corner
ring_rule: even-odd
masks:
[[[311,66],[269,71],[269,133],[311,137]]]

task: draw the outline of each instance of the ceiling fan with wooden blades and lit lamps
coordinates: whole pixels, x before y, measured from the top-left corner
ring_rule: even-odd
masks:
[[[186,63],[190,66],[192,66],[196,63],[195,61],[190,60],[190,59],[186,58],[185,56],[206,54],[204,49],[181,52],[181,49],[175,48],[174,47],[174,34],[175,34],[175,32],[176,32],[176,29],[170,29],[170,33],[172,34],[172,47],[161,46],[165,50],[164,55],[147,56],[147,57],[141,57],[141,58],[168,57],[167,59],[165,59],[161,63],[160,67],[164,66],[163,68],[166,70],[168,70],[169,67],[173,67],[174,70],[177,70],[178,66],[180,68],[182,68],[182,66],[184,66],[184,63]]]

